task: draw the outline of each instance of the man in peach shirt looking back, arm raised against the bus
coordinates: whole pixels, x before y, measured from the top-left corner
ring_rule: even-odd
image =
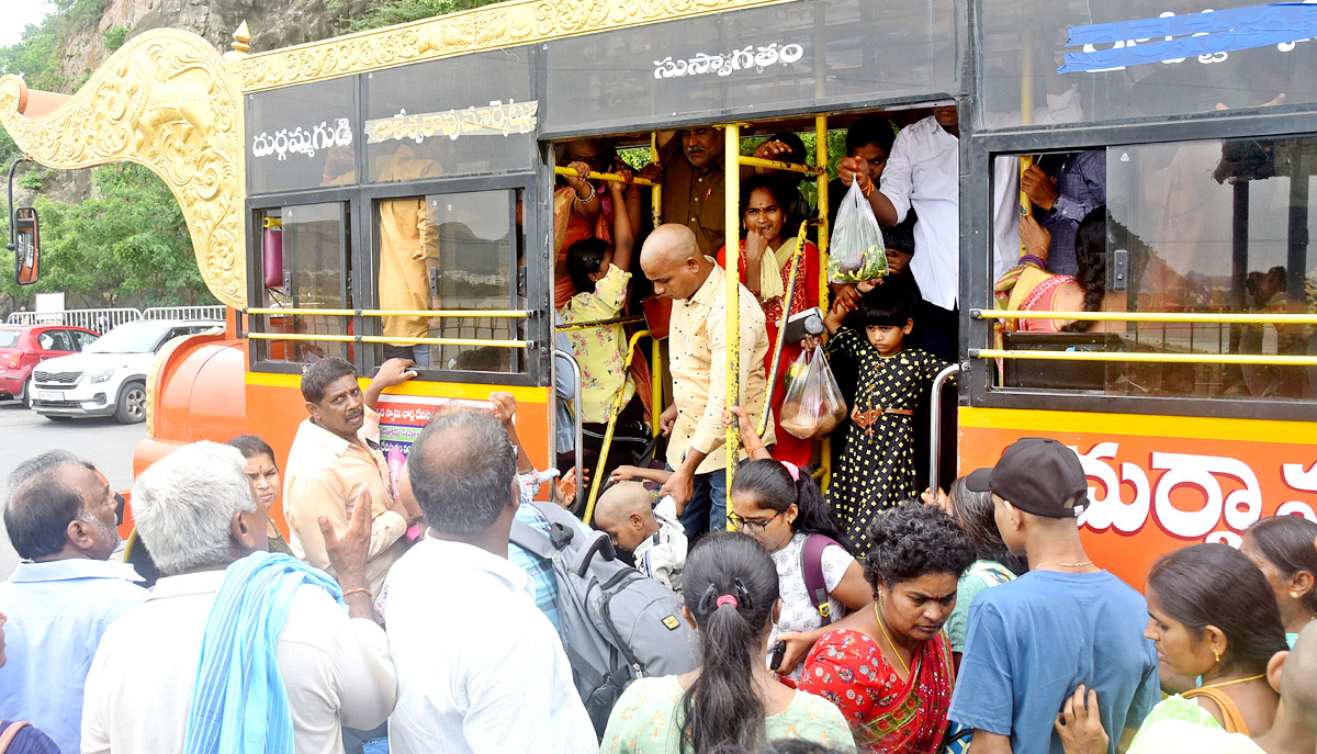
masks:
[[[362,390],[357,370],[337,356],[323,359],[302,376],[302,397],[311,414],[298,427],[283,477],[283,509],[292,538],[288,544],[299,559],[333,572],[325,554],[317,518],[324,515],[335,531],[348,529],[357,494],[370,494],[370,550],[366,581],[378,594],[389,567],[407,551],[403,534],[420,521],[420,510],[408,510],[394,500],[389,464],[379,452],[379,415],[375,403],[385,388],[416,376],[412,362],[390,359]]]

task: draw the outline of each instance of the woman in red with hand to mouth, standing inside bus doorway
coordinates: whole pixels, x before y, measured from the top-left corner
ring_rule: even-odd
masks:
[[[790,314],[798,314],[819,304],[819,250],[805,241],[801,254],[795,256],[799,228],[785,228],[786,196],[789,188],[772,174],[755,175],[741,182],[741,223],[745,237],[740,243],[740,278],[745,287],[759,298],[764,308],[768,328],[768,353],[764,356],[764,373],[773,373],[773,348],[777,344],[777,328],[782,323],[782,307],[786,304],[786,289],[790,287],[792,268],[795,268],[795,289],[792,291]],[[785,233],[792,233],[786,237]],[[792,260],[795,264],[792,264]],[[726,246],[718,249],[718,265],[727,266]],[[778,361],[777,380],[773,384],[773,422],[778,420],[782,398],[786,389],[784,377],[786,369],[801,355],[799,343],[784,343],[782,357]],[[756,417],[757,420],[757,417]],[[814,440],[802,440],[781,424],[777,426],[777,444],[773,457],[798,467],[809,465],[814,455]]]

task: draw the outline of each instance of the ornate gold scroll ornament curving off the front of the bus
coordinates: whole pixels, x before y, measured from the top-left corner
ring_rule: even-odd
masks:
[[[0,78],[0,124],[28,158],[61,170],[149,167],[178,199],[207,287],[246,308],[242,99],[209,42],[146,32],[53,112],[25,116],[28,94],[18,76]]]

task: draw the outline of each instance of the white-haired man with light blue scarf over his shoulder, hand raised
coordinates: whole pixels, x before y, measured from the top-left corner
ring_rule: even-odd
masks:
[[[396,676],[365,588],[369,508],[341,535],[321,519],[336,584],[265,551],[237,450],[195,443],[142,472],[133,514],[165,577],[100,643],[83,753],[341,753],[341,726],[383,722]]]

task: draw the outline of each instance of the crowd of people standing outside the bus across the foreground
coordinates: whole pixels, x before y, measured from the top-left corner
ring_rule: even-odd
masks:
[[[884,510],[863,542],[807,469],[753,439],[735,531],[687,538],[653,489],[674,473],[616,469],[599,536],[670,596],[653,630],[693,646],[664,671],[622,662],[593,714],[603,687],[582,692],[568,620],[586,566],[518,535],[591,527],[532,501],[544,477],[506,393],[436,414],[395,478],[373,403],[410,376],[387,364],[362,390],[345,361],[308,368],[282,484],[250,436],[142,472],[130,505],[154,581],[112,559],[120,498],[103,475],[62,451],[22,463],[4,523],[24,563],[0,585],[12,750],[1317,747],[1317,523],[1266,518],[1239,550],[1173,551],[1141,594],[1084,552],[1088,481],[1047,439]],[[731,422],[753,438],[751,411]],[[291,554],[271,550],[281,496]],[[639,652],[644,630],[616,646]]]

